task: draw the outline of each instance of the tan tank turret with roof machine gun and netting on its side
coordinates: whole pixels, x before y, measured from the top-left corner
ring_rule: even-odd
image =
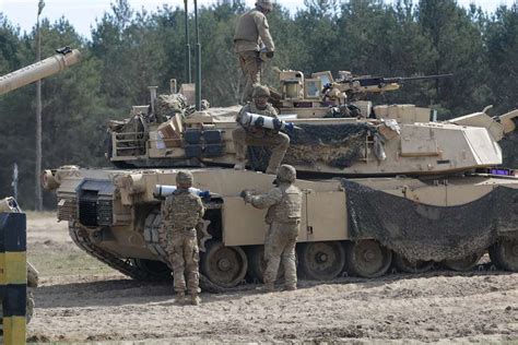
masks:
[[[398,90],[403,82],[451,74],[353,78],[342,71],[337,81],[328,71],[309,79],[299,71],[279,75],[281,86],[272,92],[272,103],[285,120],[279,130],[286,129],[291,139],[284,162],[303,174],[419,176],[493,167],[503,159],[497,142],[515,129],[517,111],[492,118],[484,110],[438,122],[429,108],[360,100]],[[153,96],[152,107],[134,107],[126,122],[113,123],[110,160],[119,167],[234,165],[232,130],[239,126],[239,107],[193,111],[189,98]],[[268,155],[266,150],[249,150],[248,168],[264,170]]]

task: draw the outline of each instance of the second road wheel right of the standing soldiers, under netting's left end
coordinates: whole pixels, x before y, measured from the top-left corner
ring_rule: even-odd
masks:
[[[372,239],[350,242],[345,262],[349,273],[374,278],[387,273],[392,262],[392,251]]]

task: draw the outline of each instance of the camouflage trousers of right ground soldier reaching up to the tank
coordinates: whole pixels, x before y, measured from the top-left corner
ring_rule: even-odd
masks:
[[[295,243],[297,241],[301,222],[278,223],[270,225],[264,242],[264,284],[275,283],[279,265],[282,260],[284,266],[284,286],[293,287],[297,285],[297,269],[295,262]]]

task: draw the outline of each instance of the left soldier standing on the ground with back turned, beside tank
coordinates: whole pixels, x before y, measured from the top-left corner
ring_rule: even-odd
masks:
[[[189,171],[176,174],[177,189],[162,204],[162,226],[163,234],[167,237],[167,254],[173,266],[176,301],[183,304],[186,300],[185,273],[191,304],[198,306],[200,258],[196,226],[201,222],[204,207],[200,197],[189,192],[192,180],[192,174]]]

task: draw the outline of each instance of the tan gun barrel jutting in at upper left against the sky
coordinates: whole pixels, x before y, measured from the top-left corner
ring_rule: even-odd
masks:
[[[81,53],[76,49],[66,47],[57,51],[58,53],[50,58],[0,76],[0,95],[61,72],[81,60]]]

